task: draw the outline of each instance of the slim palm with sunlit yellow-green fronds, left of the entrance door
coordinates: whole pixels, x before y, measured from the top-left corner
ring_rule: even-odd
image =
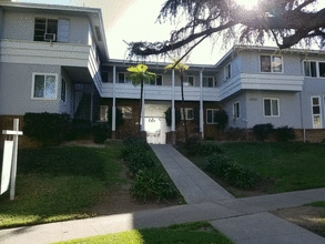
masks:
[[[141,85],[141,90],[140,90],[140,109],[139,109],[139,133],[141,131],[141,112],[142,112],[142,100],[143,100],[143,84],[144,81],[149,82],[153,79],[155,79],[155,73],[149,72],[148,71],[148,65],[145,64],[138,64],[136,67],[130,67],[126,69],[128,70],[128,74],[126,74],[126,79],[132,81],[133,85]]]

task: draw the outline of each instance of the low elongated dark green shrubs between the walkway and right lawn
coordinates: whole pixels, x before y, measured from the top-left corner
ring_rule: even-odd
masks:
[[[261,177],[223,154],[212,154],[206,159],[204,170],[211,172],[238,189],[254,189]]]

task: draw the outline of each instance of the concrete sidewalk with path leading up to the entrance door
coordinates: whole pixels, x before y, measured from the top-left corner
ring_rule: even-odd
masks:
[[[52,243],[142,227],[209,221],[234,243],[324,244],[325,238],[268,213],[325,200],[325,189],[234,199],[171,145],[152,145],[187,204],[0,231],[0,243]]]

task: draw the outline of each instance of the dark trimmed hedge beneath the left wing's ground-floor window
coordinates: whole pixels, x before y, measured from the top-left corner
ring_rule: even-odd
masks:
[[[58,145],[70,133],[70,115],[60,113],[26,113],[23,133],[43,143]]]

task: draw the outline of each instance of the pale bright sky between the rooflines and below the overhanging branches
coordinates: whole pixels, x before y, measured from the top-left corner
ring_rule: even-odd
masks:
[[[47,4],[63,4],[100,8],[102,10],[109,54],[111,59],[128,59],[128,45],[133,41],[169,40],[170,33],[177,27],[169,21],[158,23],[156,18],[165,0],[17,0]],[[237,0],[242,1],[242,0]],[[250,0],[245,0],[250,1]],[[242,1],[242,2],[245,2]],[[255,0],[254,0],[255,1]],[[324,0],[321,0],[324,1]],[[243,3],[244,4],[244,3]],[[323,2],[324,4],[324,2]],[[219,42],[220,43],[220,42]],[[227,48],[231,48],[227,47]],[[206,39],[192,52],[187,63],[215,64],[227,49],[222,48],[215,40]],[[166,60],[172,62],[171,57]]]

